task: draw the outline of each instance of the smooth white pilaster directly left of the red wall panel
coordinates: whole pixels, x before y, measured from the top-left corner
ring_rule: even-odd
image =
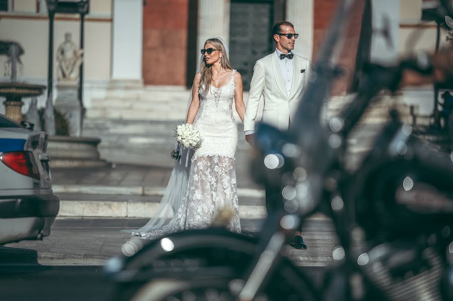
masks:
[[[113,80],[142,81],[142,17],[142,0],[113,0]]]

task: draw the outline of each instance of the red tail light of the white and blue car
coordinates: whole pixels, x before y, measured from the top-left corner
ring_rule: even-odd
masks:
[[[23,175],[40,179],[38,166],[31,152],[8,152],[0,156],[0,161]]]

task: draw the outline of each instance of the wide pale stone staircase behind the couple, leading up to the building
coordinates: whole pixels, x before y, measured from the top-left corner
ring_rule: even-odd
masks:
[[[116,163],[133,163],[168,167],[175,143],[173,127],[185,118],[189,90],[181,87],[125,87],[111,89],[106,97],[92,99],[87,110],[83,135],[99,137],[101,158]],[[248,93],[244,93],[247,99]],[[339,113],[352,98],[333,97],[328,104],[327,117]],[[262,104],[261,104],[262,105]],[[411,123],[410,108],[388,96],[376,99],[349,139],[352,154],[369,149],[375,134],[388,120],[390,107],[395,106],[402,120]],[[415,110],[416,111],[416,110]],[[258,112],[261,112],[259,108]],[[236,114],[235,114],[236,115]],[[261,116],[258,114],[257,120]],[[236,115],[239,133],[242,123]],[[249,146],[240,135],[237,161],[247,164]]]

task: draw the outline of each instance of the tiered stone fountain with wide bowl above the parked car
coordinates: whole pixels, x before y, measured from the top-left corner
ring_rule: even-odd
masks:
[[[24,50],[17,42],[0,41],[0,54],[8,56],[7,64],[10,65],[10,81],[0,82],[0,96],[6,97],[5,115],[20,123],[22,121],[22,98],[36,97],[43,93],[46,86],[29,84],[17,81],[17,67],[21,63],[20,56]],[[7,70],[8,71],[8,70]]]

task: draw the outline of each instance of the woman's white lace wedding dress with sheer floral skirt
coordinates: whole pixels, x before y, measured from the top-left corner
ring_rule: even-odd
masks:
[[[241,232],[236,189],[235,155],[238,128],[233,116],[235,95],[234,74],[228,84],[203,95],[200,87],[200,108],[193,122],[203,142],[192,156],[186,195],[174,218],[161,229],[134,232],[147,239],[189,229],[211,226],[218,212],[230,207],[234,215],[226,228]],[[183,160],[183,158],[181,158]]]

